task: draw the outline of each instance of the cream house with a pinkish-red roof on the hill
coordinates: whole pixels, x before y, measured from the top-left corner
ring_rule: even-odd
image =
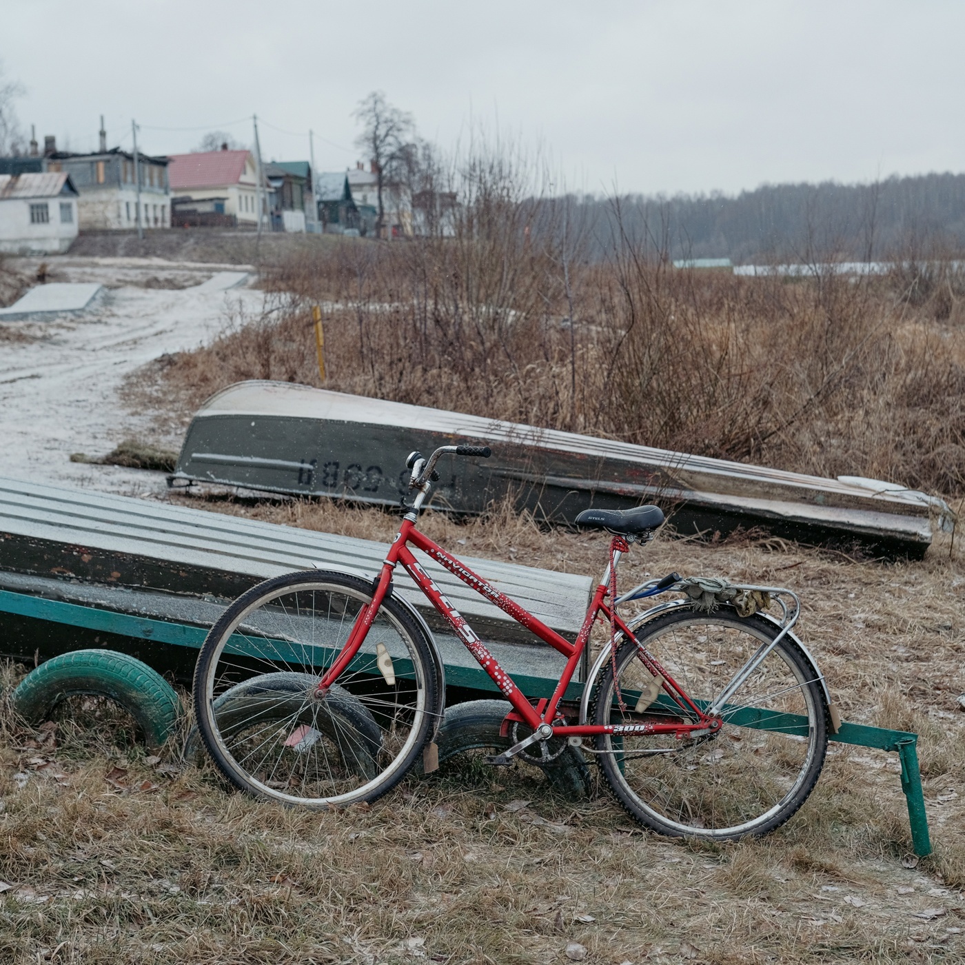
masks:
[[[258,225],[258,168],[247,149],[171,154],[168,158],[174,224],[178,211],[191,209]]]

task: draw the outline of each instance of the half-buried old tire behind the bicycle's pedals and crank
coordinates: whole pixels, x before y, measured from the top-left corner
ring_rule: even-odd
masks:
[[[512,745],[512,740],[509,736],[500,736],[499,731],[511,709],[512,704],[508,701],[469,701],[447,707],[435,738],[439,763],[444,764],[468,751],[494,754],[505,751]],[[539,766],[547,784],[565,797],[575,800],[590,794],[590,768],[577,748],[567,747],[545,766],[533,766]]]

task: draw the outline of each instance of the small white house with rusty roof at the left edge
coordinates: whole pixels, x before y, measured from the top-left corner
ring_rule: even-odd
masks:
[[[78,197],[66,172],[0,175],[0,251],[67,251],[77,236]]]

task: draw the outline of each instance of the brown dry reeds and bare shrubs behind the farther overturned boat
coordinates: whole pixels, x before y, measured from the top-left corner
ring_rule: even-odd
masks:
[[[262,316],[177,356],[168,383],[185,406],[243,378],[318,385],[317,303],[330,389],[965,492],[965,333],[936,320],[957,311],[953,262],[927,262],[941,280],[924,300],[907,261],[792,282],[676,270],[615,207],[591,263],[579,206],[527,200],[498,158],[463,183],[447,236],[293,250],[266,272]]]

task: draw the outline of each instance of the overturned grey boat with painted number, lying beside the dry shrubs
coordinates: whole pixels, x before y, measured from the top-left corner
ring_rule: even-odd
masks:
[[[169,483],[398,505],[406,455],[456,442],[493,450],[490,459],[447,467],[434,505],[457,512],[482,512],[510,495],[520,510],[571,522],[591,507],[655,502],[681,533],[762,527],[913,558],[924,555],[933,524],[951,521],[941,500],[889,483],[821,479],[288,382],[238,382],[207,400]]]

